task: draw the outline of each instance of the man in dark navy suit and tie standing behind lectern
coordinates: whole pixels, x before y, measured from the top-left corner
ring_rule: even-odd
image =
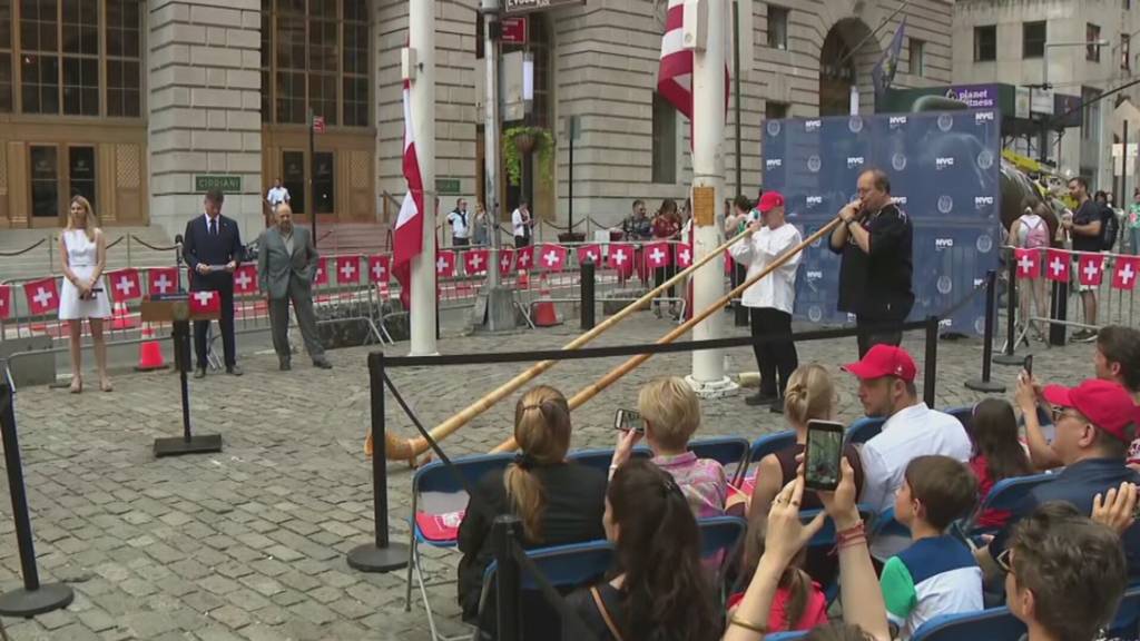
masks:
[[[186,224],[182,258],[192,270],[190,291],[214,291],[221,297],[221,344],[226,354],[226,373],[242,375],[234,347],[234,271],[242,262],[242,236],[237,221],[221,214],[226,196],[221,189],[210,189],[203,203],[205,213]],[[206,332],[209,320],[194,322],[194,351],[197,367],[194,378],[206,375]]]

